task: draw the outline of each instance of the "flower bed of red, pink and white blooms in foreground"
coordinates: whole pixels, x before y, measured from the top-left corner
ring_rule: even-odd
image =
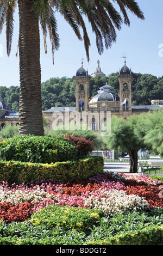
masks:
[[[149,176],[111,172],[66,182],[42,179],[9,185],[2,181],[0,245],[159,243],[163,241],[161,186],[161,180]],[[153,239],[142,240],[143,232]]]

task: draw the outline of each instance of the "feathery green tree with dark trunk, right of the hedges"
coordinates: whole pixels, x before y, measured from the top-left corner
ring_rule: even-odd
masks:
[[[106,137],[108,148],[128,153],[130,173],[137,173],[137,152],[147,147],[143,133],[140,136],[143,127],[139,120],[140,115],[131,115],[127,119],[111,117],[111,133]]]

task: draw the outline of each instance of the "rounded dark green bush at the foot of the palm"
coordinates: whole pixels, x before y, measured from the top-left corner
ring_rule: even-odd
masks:
[[[2,160],[55,163],[77,160],[77,147],[61,137],[15,136],[0,143]]]

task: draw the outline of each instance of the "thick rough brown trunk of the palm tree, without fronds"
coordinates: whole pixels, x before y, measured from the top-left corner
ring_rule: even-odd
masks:
[[[39,19],[33,0],[18,0],[20,106],[19,135],[43,136]]]

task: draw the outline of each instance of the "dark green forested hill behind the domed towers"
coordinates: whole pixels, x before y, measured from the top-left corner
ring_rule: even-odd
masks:
[[[163,76],[156,77],[150,74],[132,73],[132,105],[151,105],[151,100],[163,99]],[[108,83],[115,88],[115,93],[118,94],[118,72],[111,73],[108,77],[90,76],[90,96],[95,96],[99,87]],[[51,107],[74,107],[76,84],[74,77],[67,78],[50,78],[46,82],[41,83],[42,88],[42,109]],[[12,111],[18,111],[19,101],[19,86],[11,86],[9,88],[0,86],[0,97]]]

